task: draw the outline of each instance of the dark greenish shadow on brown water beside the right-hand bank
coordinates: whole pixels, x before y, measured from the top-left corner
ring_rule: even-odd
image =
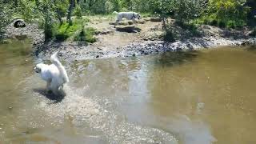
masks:
[[[154,62],[156,66],[175,66],[181,65],[184,62],[190,62],[200,54],[197,50],[176,51],[161,54],[157,61]]]

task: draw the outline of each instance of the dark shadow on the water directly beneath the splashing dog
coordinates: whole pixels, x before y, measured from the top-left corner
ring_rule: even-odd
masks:
[[[54,101],[54,103],[62,102],[62,100],[66,96],[66,93],[64,90],[60,91],[58,95],[53,93],[47,93],[45,89],[34,89],[34,92],[38,94],[42,94],[46,98]]]

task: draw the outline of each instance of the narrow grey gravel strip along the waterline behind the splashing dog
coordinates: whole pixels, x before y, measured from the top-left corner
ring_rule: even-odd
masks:
[[[218,46],[247,45],[256,45],[256,38],[232,39],[208,37],[191,38],[178,42],[142,41],[117,47],[116,50],[95,50],[90,45],[86,46],[78,42],[54,42],[45,45],[43,50],[38,53],[38,58],[48,59],[50,58],[50,54],[53,54],[56,50],[59,51],[59,55],[66,61],[75,61],[93,58],[132,57],[177,50],[199,50]]]

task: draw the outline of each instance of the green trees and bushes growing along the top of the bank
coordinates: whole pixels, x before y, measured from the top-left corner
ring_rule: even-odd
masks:
[[[197,34],[198,30],[191,22],[230,29],[246,26],[247,22],[256,23],[255,7],[254,0],[0,0],[0,31],[12,16],[21,16],[26,22],[36,19],[45,32],[46,41],[50,38],[66,40],[74,37],[79,41],[94,42],[94,30],[83,29],[85,21],[82,16],[135,11],[144,16],[162,18],[165,40],[173,41],[174,30],[167,22],[170,17],[175,18],[183,29]],[[73,23],[67,15],[76,16],[80,21]],[[62,23],[65,17],[70,20],[70,26]]]

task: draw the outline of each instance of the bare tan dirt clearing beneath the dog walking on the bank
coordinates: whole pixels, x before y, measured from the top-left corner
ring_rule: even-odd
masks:
[[[162,34],[161,22],[139,21],[138,24],[129,25],[124,20],[122,25],[118,25],[114,28],[114,25],[110,25],[114,22],[113,18],[90,18],[91,22],[88,23],[89,27],[94,27],[99,34],[97,35],[98,41],[92,44],[90,47],[96,47],[101,50],[116,50],[121,46],[129,45],[133,42],[142,42],[143,39],[149,36]],[[124,25],[125,24],[125,25]],[[152,34],[149,34],[149,33]],[[154,34],[153,34],[154,33]]]

